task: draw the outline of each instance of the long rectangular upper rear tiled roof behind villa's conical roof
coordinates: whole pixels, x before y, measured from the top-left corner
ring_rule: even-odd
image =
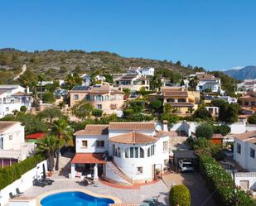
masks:
[[[154,122],[110,122],[109,130],[155,130]]]

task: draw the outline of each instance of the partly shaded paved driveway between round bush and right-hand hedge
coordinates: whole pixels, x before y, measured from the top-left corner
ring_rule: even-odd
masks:
[[[169,188],[171,188],[171,184],[186,184],[191,192],[191,206],[216,206],[213,198],[205,202],[210,197],[210,191],[199,173],[171,173],[163,175],[162,180]]]

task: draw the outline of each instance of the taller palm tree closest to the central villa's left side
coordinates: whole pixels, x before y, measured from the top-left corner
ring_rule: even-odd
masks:
[[[58,139],[58,150],[56,156],[56,170],[59,170],[60,165],[60,146],[63,146],[63,142],[68,142],[72,139],[73,128],[70,127],[67,120],[60,118],[53,122],[52,132],[56,135]]]

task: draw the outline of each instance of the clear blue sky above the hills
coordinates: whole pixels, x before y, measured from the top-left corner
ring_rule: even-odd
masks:
[[[256,65],[254,0],[1,0],[0,48]]]

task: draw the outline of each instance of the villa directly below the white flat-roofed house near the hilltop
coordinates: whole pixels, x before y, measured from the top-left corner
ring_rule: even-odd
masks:
[[[116,80],[119,89],[131,89],[133,92],[139,91],[142,88],[149,90],[149,79],[138,74],[125,74]]]

